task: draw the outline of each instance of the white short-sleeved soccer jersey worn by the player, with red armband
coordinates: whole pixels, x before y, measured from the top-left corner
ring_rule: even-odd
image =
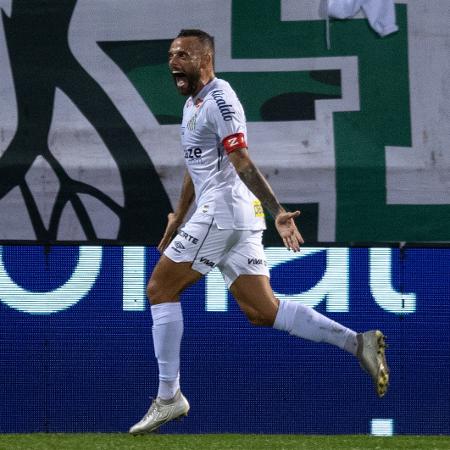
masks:
[[[261,203],[239,178],[224,147],[225,143],[229,151],[230,144],[243,146],[246,141],[244,110],[229,83],[214,78],[188,98],[181,144],[195,188],[195,220],[213,217],[222,229],[266,228]]]

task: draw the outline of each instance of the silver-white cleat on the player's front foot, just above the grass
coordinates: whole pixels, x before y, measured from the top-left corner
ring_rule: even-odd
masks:
[[[187,416],[188,412],[189,402],[180,390],[171,400],[162,400],[158,397],[153,400],[144,417],[130,428],[129,433],[151,433],[170,420]]]

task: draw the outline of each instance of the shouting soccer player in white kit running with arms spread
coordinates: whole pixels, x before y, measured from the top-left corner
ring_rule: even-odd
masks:
[[[169,69],[178,92],[187,97],[181,125],[186,171],[178,205],[169,214],[158,245],[161,258],[147,286],[158,395],[130,433],[154,431],[187,415],[189,403],[180,390],[183,316],[179,297],[216,266],[253,325],[274,327],[352,353],[382,397],[389,369],[381,331],[357,334],[299,302],[279,301],[270,287],[262,246],[262,207],[275,218],[284,245],[294,252],[303,244],[294,222],[300,212],[288,212],[280,205],[252,162],[242,106],[231,86],[214,75],[211,36],[201,30],[182,30],[170,46]],[[179,229],[194,198],[195,212]]]

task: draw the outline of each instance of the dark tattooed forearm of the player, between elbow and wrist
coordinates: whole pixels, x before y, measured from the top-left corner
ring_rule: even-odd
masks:
[[[253,164],[248,161],[243,167],[238,169],[238,174],[244,184],[252,191],[256,198],[263,204],[264,208],[276,217],[284,208],[280,205],[269,183],[263,174]]]

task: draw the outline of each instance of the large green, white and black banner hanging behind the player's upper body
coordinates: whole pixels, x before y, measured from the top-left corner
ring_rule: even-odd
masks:
[[[319,3],[3,2],[0,239],[158,242],[184,170],[167,50],[199,27],[307,241],[448,241],[445,5],[402,1],[383,38],[331,19],[327,48]]]

